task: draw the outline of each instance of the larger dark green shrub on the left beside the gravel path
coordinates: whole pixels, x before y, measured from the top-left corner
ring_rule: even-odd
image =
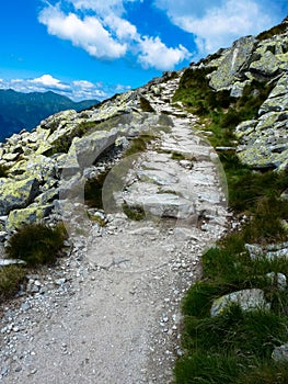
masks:
[[[24,260],[28,266],[51,264],[60,256],[66,237],[64,225],[55,228],[26,225],[11,236],[7,252],[10,258]]]

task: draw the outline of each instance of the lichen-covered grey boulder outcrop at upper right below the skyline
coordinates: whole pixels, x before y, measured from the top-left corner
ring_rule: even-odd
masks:
[[[286,169],[288,166],[288,22],[284,20],[268,33],[238,39],[192,68],[207,67],[209,86],[229,90],[240,98],[253,81],[270,92],[258,109],[257,118],[235,126],[237,154],[255,169]],[[266,37],[268,36],[268,37]],[[255,90],[254,92],[258,92]]]

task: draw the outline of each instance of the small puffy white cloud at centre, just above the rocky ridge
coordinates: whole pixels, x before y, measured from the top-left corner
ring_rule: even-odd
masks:
[[[189,57],[189,53],[184,46],[168,48],[159,37],[145,36],[139,46],[141,54],[138,60],[143,68],[152,67],[160,70],[169,70]]]

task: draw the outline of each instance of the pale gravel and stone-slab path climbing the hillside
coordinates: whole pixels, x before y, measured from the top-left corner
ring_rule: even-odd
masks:
[[[74,239],[70,258],[50,275],[31,276],[34,292],[4,308],[0,382],[172,381],[183,353],[180,302],[227,216],[216,155],[193,133],[193,116],[168,103],[175,86],[165,84],[161,98],[148,92],[173,124],[134,161],[115,194],[119,212],[92,226],[88,241]],[[145,219],[129,221],[124,202],[141,206]]]

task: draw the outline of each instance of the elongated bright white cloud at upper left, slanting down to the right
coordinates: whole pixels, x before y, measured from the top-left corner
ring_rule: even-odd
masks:
[[[96,16],[81,19],[74,13],[65,14],[58,5],[49,5],[38,20],[49,34],[71,41],[96,58],[115,59],[126,54],[126,45],[115,41]]]

